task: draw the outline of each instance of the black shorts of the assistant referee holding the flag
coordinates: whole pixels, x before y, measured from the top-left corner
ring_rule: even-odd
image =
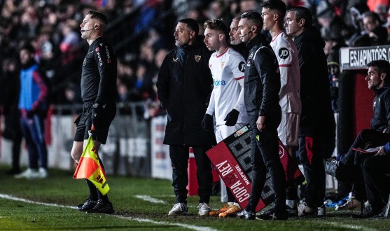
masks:
[[[74,141],[82,142],[88,139],[88,131],[92,127],[92,108],[95,101],[84,102],[83,113],[81,114],[80,122],[78,122],[76,134],[74,134]],[[106,104],[104,108],[104,114],[102,116],[102,124],[98,129],[95,127],[95,131],[92,133],[92,139],[99,141],[102,144],[106,144],[107,136],[109,135],[109,127],[113,118],[116,115],[116,102],[112,101]]]

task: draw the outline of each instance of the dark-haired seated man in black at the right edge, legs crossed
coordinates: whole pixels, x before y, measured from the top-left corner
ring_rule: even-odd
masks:
[[[364,156],[353,148],[383,146],[390,141],[390,64],[386,60],[372,61],[368,64],[368,88],[374,90],[374,116],[371,118],[371,129],[362,130],[354,144],[340,162],[326,162],[326,173],[335,176],[338,181],[354,183],[352,197],[346,204],[336,207],[336,210],[361,210],[364,184],[361,166]]]

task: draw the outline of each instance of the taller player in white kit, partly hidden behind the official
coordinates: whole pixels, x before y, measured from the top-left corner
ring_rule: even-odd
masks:
[[[295,160],[295,151],[298,146],[298,128],[300,121],[300,71],[298,50],[293,39],[284,33],[284,15],[286,4],[281,0],[265,1],[261,5],[263,10],[263,29],[270,30],[270,43],[280,70],[279,105],[281,106],[281,123],[277,128],[278,136],[286,150]],[[298,216],[296,202],[298,200],[295,185],[288,186],[286,209],[289,216]]]

